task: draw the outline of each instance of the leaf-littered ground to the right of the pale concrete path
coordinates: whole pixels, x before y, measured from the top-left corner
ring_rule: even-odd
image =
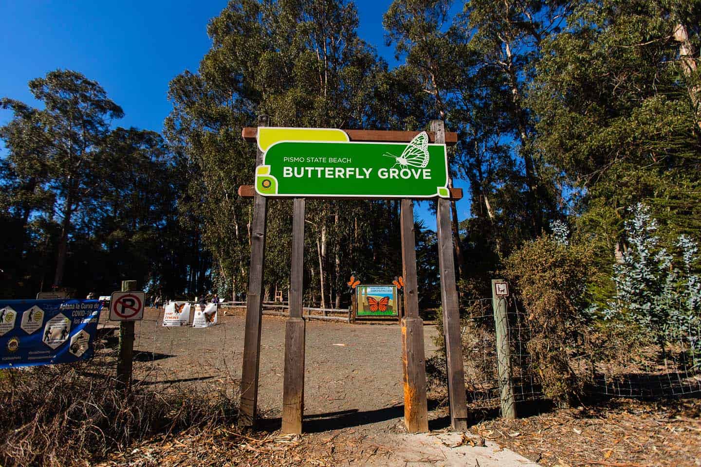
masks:
[[[701,401],[613,399],[471,431],[544,466],[701,466]]]

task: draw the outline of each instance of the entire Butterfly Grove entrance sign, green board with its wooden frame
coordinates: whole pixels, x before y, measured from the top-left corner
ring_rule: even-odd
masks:
[[[239,195],[254,199],[239,425],[253,426],[256,421],[267,197],[292,197],[294,200],[290,318],[285,328],[283,433],[301,433],[304,412],[302,276],[305,199],[401,198],[404,424],[411,433],[428,431],[426,362],[423,321],[418,315],[413,200],[437,198],[436,224],[450,418],[454,430],[465,431],[467,404],[450,224],[450,202],[459,200],[462,190],[449,188],[445,148],[456,144],[457,134],[445,132],[442,120],[433,120],[430,132],[402,132],[269,127],[268,118],[261,116],[258,127],[245,127],[241,135],[245,141],[256,142],[258,148],[255,185],[240,186],[238,189]]]

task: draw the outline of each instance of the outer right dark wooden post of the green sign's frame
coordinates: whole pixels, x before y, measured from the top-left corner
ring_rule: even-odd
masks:
[[[436,142],[445,142],[445,127],[442,120],[431,122]],[[463,344],[460,337],[460,304],[455,281],[453,237],[450,223],[450,201],[438,200],[436,218],[438,237],[438,264],[440,267],[440,294],[443,309],[443,334],[448,367],[448,398],[450,402],[450,424],[454,431],[468,429],[468,405],[465,398],[465,370],[463,368]]]

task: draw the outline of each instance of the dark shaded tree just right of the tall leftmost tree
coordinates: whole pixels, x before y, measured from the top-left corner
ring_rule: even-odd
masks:
[[[179,215],[179,194],[186,188],[179,161],[156,132],[114,129],[106,150],[116,155],[114,176],[100,209],[86,222],[103,245],[104,269],[128,268],[150,293],[173,297],[184,291],[200,295],[210,256],[197,230]],[[103,273],[118,283],[118,273]]]

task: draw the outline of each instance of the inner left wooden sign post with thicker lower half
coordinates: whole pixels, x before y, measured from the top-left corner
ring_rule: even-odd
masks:
[[[290,319],[285,328],[285,375],[283,377],[283,433],[302,432],[304,414],[304,198],[294,199],[292,214],[292,267],[290,269]]]

